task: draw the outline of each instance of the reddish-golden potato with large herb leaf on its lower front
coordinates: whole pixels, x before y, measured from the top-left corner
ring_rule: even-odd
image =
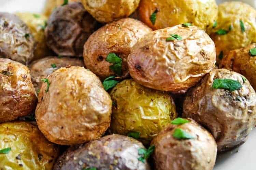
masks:
[[[127,57],[136,42],[152,30],[139,20],[120,19],[106,24],[94,32],[84,45],[85,66],[100,79],[115,74],[110,70],[112,63],[105,59],[109,53],[115,53],[123,59],[123,76],[129,74]]]

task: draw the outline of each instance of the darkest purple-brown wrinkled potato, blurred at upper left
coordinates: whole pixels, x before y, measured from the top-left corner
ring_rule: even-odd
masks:
[[[56,8],[48,19],[46,43],[58,55],[83,56],[85,41],[97,27],[81,3],[69,3]]]

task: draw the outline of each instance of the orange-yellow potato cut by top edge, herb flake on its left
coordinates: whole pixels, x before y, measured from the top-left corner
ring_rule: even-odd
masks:
[[[153,24],[151,15],[158,9]],[[140,20],[153,30],[192,23],[206,31],[212,28],[217,19],[218,6],[215,0],[141,0]]]

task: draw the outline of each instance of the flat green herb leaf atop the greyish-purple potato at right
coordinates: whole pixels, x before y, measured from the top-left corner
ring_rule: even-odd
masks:
[[[232,79],[215,79],[212,87],[214,89],[225,89],[229,91],[235,91],[242,88],[242,85],[238,81]]]

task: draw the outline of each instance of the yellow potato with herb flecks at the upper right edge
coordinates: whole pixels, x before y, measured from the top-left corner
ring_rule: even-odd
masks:
[[[223,51],[224,56],[234,49],[246,47],[256,42],[256,10],[243,2],[224,2],[219,4],[219,13],[217,19],[217,27],[213,29],[210,35],[216,46],[216,55],[219,56]],[[245,32],[241,31],[240,20],[243,21]],[[219,29],[232,30],[226,35],[217,35]],[[221,63],[221,59],[216,57],[217,64]]]

